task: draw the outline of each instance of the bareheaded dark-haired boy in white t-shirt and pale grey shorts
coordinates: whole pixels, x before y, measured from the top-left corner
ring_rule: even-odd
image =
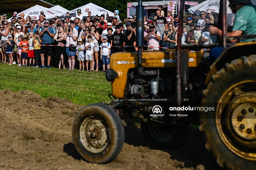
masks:
[[[86,50],[85,53],[85,60],[86,60],[86,71],[88,70],[88,63],[90,61],[90,71],[92,71],[92,54],[94,53],[94,43],[92,42],[92,36],[87,37],[88,42],[85,44],[84,50]]]

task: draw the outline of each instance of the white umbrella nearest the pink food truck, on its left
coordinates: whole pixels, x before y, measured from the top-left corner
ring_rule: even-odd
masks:
[[[91,11],[91,16],[93,15],[97,15],[100,16],[100,15],[106,15],[107,13],[109,14],[109,16],[114,16],[114,13],[113,12],[110,12],[109,10],[106,10],[98,5],[95,5],[93,3],[89,3],[89,4],[86,4],[84,6],[80,6],[76,9],[73,9],[71,10],[69,13],[73,14],[74,16],[77,15],[77,9],[81,9],[82,11],[82,15],[83,15],[83,18],[86,18],[88,16],[88,12]],[[107,13],[106,13],[107,12]]]

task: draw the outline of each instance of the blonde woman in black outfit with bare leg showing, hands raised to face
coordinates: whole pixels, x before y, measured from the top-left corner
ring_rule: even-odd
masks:
[[[58,42],[58,46],[56,46],[56,64],[58,64],[58,69],[60,69],[60,66],[62,64],[63,69],[66,70],[65,68],[65,54],[66,54],[66,41],[63,40],[63,37],[67,33],[65,32],[65,27],[60,26],[59,30],[57,30],[54,39]]]

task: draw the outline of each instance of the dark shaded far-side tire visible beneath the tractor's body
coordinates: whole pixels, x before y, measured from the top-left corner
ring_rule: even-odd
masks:
[[[141,121],[141,130],[147,143],[154,148],[175,150],[186,143],[190,134],[190,124],[161,126]]]

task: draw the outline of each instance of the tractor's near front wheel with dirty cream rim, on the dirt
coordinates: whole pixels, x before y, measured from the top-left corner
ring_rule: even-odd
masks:
[[[111,107],[91,104],[74,118],[72,137],[80,155],[90,163],[113,161],[124,144],[123,123]]]

